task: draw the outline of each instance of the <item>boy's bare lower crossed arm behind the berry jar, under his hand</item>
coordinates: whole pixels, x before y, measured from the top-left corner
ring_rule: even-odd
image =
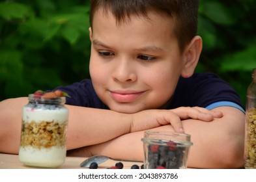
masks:
[[[222,118],[212,122],[183,120],[185,133],[192,135],[188,167],[190,168],[240,168],[243,166],[244,113],[233,107],[219,107]],[[173,131],[171,125],[154,130]],[[106,142],[85,148],[92,155],[109,155],[117,159],[143,160],[143,131],[130,133]],[[82,153],[82,149],[80,150]]]

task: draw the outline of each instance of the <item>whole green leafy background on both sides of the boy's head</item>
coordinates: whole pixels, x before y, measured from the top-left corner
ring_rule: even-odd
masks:
[[[256,68],[256,1],[201,0],[203,53],[213,72],[246,102]],[[89,1],[0,2],[0,101],[89,78]]]

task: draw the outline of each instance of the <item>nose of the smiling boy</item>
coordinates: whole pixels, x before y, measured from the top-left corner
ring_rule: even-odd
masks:
[[[137,80],[134,65],[127,61],[121,60],[113,70],[113,79],[121,83],[134,82]]]

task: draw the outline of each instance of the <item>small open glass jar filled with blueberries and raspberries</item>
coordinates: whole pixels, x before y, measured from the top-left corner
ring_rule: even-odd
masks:
[[[190,135],[170,131],[145,131],[143,141],[145,169],[187,168]]]

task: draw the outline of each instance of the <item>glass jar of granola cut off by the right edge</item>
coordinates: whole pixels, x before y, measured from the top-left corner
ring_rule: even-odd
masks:
[[[251,73],[253,80],[247,90],[246,132],[245,132],[245,168],[256,168],[256,68]]]

